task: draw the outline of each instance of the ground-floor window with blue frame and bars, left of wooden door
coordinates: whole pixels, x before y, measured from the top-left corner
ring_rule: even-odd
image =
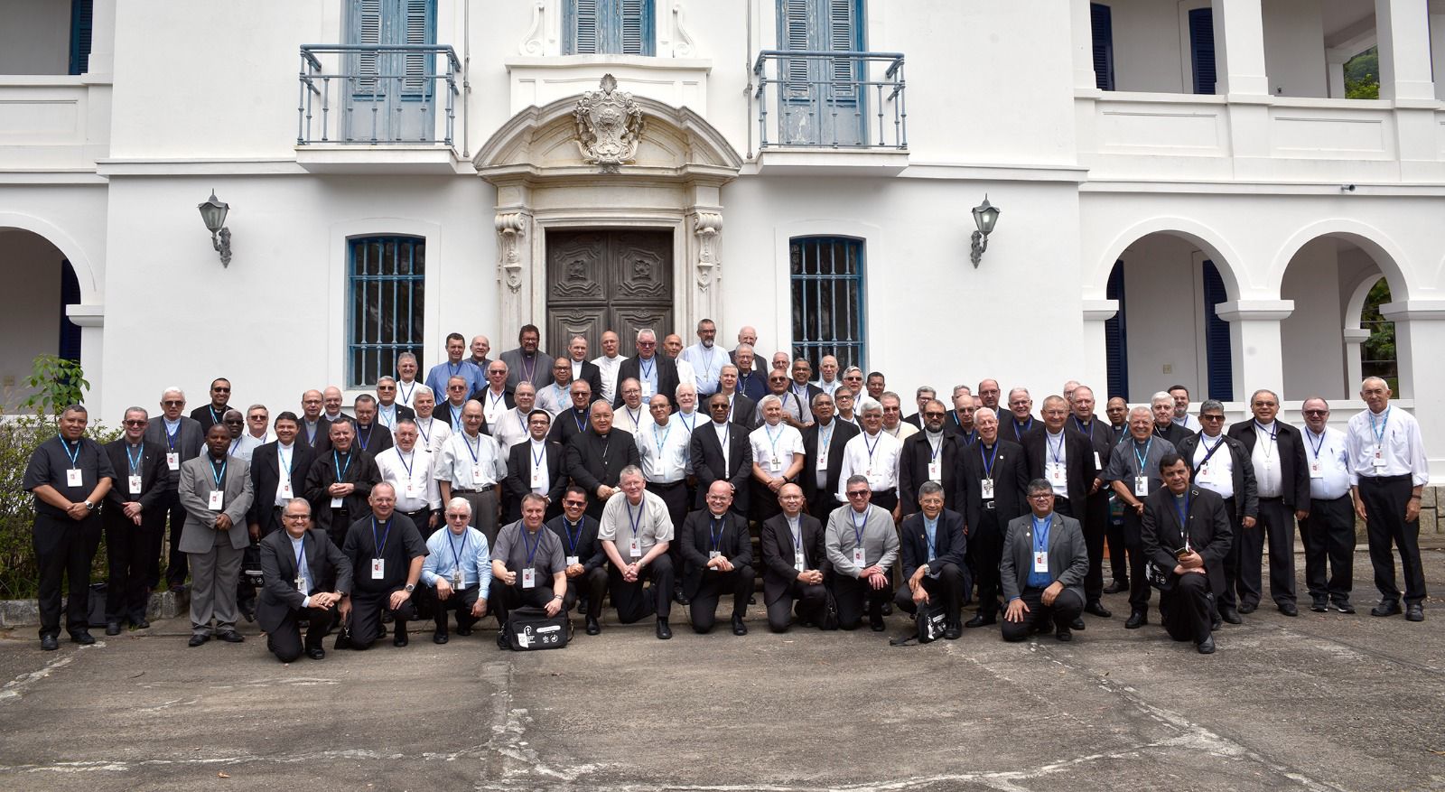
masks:
[[[371,387],[402,353],[422,356],[426,240],[347,240],[347,383]]]

